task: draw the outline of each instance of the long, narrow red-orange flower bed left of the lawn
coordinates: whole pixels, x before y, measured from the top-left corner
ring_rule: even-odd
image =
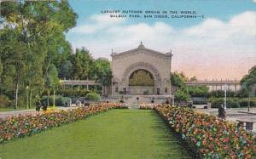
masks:
[[[75,122],[97,113],[114,108],[127,108],[125,105],[102,103],[75,108],[68,111],[43,111],[37,114],[8,116],[0,118],[0,143],[39,133],[49,128]]]

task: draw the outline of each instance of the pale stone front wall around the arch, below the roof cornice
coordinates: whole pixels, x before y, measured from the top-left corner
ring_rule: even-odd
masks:
[[[137,49],[133,49],[123,54],[112,54],[111,68],[113,72],[113,81],[119,81],[119,91],[123,88],[126,88],[128,90],[128,83],[122,82],[126,69],[129,68],[132,64],[143,62],[154,66],[155,70],[159,72],[161,78],[161,82],[158,83],[158,87],[160,88],[160,94],[171,94],[171,61],[171,54],[160,54],[159,52],[154,52],[154,50],[149,50],[144,47],[140,48],[140,46]],[[165,93],[166,87],[168,90],[167,93]],[[113,87],[112,92],[113,94],[118,94],[115,93],[115,87]]]

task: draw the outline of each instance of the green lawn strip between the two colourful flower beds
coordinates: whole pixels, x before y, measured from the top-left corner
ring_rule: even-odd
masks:
[[[190,158],[154,111],[113,110],[0,145],[0,158]]]

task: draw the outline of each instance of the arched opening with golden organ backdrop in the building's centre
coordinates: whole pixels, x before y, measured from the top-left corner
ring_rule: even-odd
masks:
[[[129,77],[129,94],[154,94],[154,76],[144,69],[133,71]]]

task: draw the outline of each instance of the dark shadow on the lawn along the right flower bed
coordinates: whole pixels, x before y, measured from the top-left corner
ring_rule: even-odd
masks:
[[[154,156],[155,158],[201,158],[158,113],[152,111],[152,116],[156,117],[151,128],[160,134],[155,136],[157,144],[154,145],[169,148],[167,150],[161,150],[158,156]]]

